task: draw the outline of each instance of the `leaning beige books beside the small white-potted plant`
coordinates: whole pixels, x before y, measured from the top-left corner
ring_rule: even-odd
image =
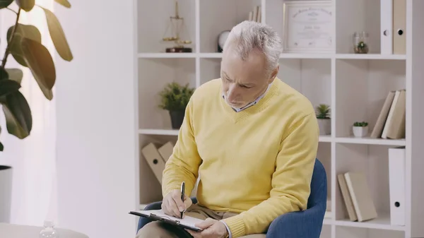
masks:
[[[371,133],[371,138],[405,138],[406,90],[390,91]]]

